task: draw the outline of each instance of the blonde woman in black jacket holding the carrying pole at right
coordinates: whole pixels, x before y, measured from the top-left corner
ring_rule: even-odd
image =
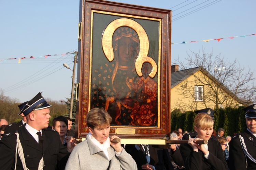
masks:
[[[221,143],[211,137],[214,124],[212,117],[208,114],[199,113],[194,122],[194,129],[197,132],[196,138],[190,138],[188,143],[180,146],[185,168],[190,170],[228,169]],[[207,140],[208,144],[198,145],[195,143],[198,140]]]

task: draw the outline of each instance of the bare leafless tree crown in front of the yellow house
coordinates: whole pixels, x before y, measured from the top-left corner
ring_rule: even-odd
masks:
[[[256,86],[254,84],[254,72],[250,68],[241,67],[235,59],[228,61],[224,56],[218,54],[213,56],[213,52],[187,53],[187,58],[181,61],[181,58],[175,60],[173,64],[179,65],[180,70],[186,70],[187,74],[193,75],[194,80],[190,84],[201,85],[204,87],[203,101],[196,101],[195,89],[185,87],[180,83],[178,91],[183,94],[184,98],[176,102],[176,106],[181,106],[180,102],[190,101],[187,108],[197,109],[198,105],[214,108],[219,107],[236,107],[239,105],[249,105],[256,101]],[[191,71],[193,68],[199,68],[203,74],[197,74]],[[211,106],[212,107],[212,106]]]

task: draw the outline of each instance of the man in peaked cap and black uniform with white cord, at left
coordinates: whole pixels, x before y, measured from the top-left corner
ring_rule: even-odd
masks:
[[[67,147],[60,141],[59,133],[47,129],[49,105],[41,93],[31,99],[20,111],[27,118],[27,123],[16,131],[6,134],[0,140],[1,169],[64,169],[73,147],[71,140]],[[17,149],[16,149],[17,148]]]

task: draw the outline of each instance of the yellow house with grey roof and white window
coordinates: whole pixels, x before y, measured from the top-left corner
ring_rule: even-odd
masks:
[[[179,70],[171,66],[171,111],[240,106],[241,100],[203,67]]]

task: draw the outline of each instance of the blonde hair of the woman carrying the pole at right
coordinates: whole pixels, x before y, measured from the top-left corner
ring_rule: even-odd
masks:
[[[194,119],[195,126],[200,129],[213,127],[214,120],[212,117],[205,113],[199,113]]]

